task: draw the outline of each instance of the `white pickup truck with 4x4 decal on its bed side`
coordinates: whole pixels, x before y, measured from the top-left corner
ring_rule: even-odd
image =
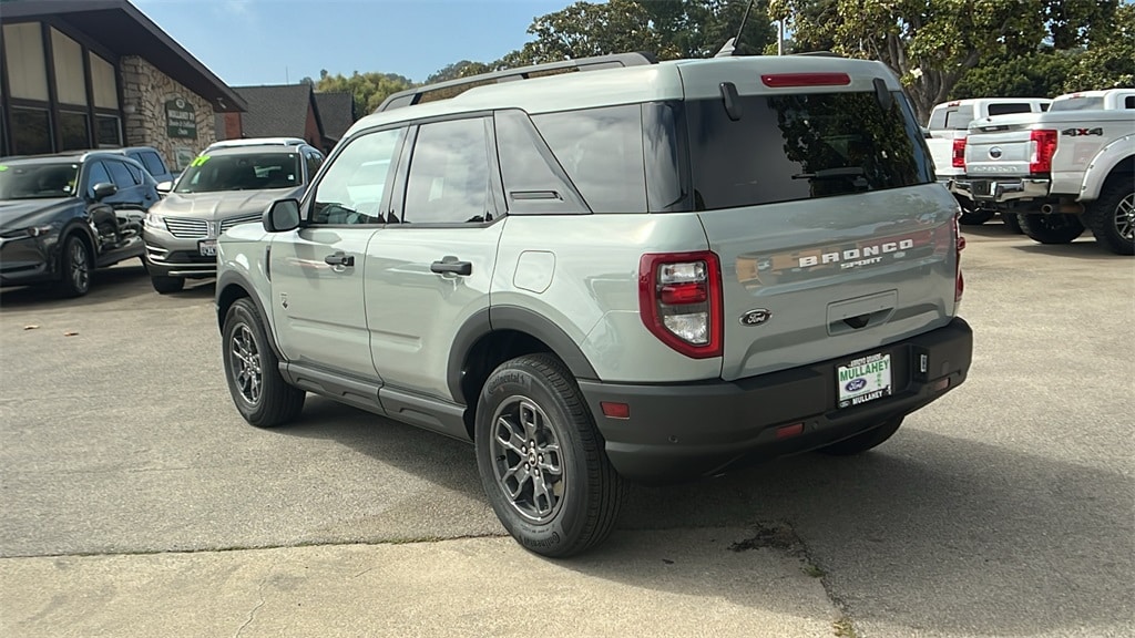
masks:
[[[1135,254],[1135,89],[1071,93],[1048,112],[975,120],[965,165],[955,194],[1009,207],[1033,240],[1068,243],[1086,226],[1112,252]]]

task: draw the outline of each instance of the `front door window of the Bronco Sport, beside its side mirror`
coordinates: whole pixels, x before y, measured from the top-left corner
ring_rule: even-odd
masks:
[[[311,223],[386,224],[382,200],[404,135],[404,128],[395,128],[351,140],[316,185]]]

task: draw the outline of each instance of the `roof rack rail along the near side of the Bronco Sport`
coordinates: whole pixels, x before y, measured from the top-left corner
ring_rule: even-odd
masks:
[[[579,58],[577,60],[560,60],[543,65],[484,73],[480,75],[459,77],[457,79],[449,79],[447,82],[439,82],[437,84],[429,84],[426,86],[418,86],[414,89],[407,89],[406,91],[392,93],[386,98],[386,100],[382,100],[382,103],[375,109],[375,112],[388,111],[424,102],[448,100],[456,98],[470,89],[485,86],[487,84],[514,82],[516,79],[531,79],[549,75],[560,75],[563,73],[602,70],[608,68],[655,64],[658,64],[658,59],[653,54],[638,51],[633,53],[612,53],[609,56],[596,56],[594,58]]]

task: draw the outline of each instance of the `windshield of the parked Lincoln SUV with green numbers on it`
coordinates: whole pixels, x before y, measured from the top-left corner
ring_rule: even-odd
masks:
[[[262,191],[302,183],[297,153],[241,153],[200,156],[177,181],[175,193]]]

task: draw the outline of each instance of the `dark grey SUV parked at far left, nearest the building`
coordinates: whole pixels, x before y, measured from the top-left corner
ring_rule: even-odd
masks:
[[[86,294],[91,275],[141,258],[157,184],[136,161],[83,151],[0,159],[0,285]]]

